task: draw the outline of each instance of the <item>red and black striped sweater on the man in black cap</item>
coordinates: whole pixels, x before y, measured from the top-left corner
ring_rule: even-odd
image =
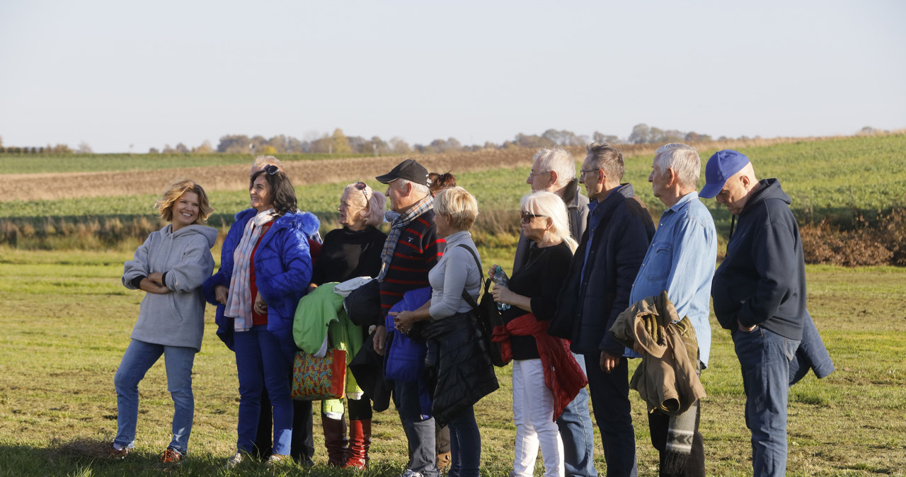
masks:
[[[380,283],[381,316],[387,316],[390,307],[402,300],[406,291],[430,286],[428,271],[438,262],[445,244],[438,237],[433,210],[419,215],[402,229],[390,267]]]

